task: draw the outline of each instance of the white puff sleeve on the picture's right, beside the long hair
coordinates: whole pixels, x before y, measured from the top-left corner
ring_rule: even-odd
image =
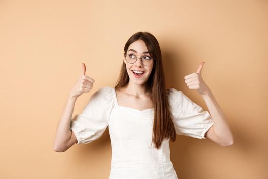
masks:
[[[168,100],[176,133],[207,139],[204,135],[214,124],[209,112],[175,88],[170,89]]]

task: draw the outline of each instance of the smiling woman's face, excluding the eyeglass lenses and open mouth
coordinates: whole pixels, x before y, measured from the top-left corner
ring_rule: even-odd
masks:
[[[146,44],[142,40],[137,40],[130,44],[126,55],[128,56],[129,54],[133,54],[136,57],[138,57],[137,61],[133,64],[128,63],[124,58],[124,63],[126,64],[126,70],[128,72],[129,79],[134,84],[142,85],[148,80],[152,72],[154,62],[150,66],[145,66],[142,64],[140,58],[142,58],[143,56],[151,57],[150,54],[148,53]],[[137,76],[134,74],[133,70],[142,71],[144,73],[140,76]]]

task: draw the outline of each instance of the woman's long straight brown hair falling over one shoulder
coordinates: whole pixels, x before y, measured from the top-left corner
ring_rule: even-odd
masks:
[[[137,32],[133,34],[125,44],[124,56],[126,57],[126,53],[130,44],[139,39],[144,41],[149,54],[153,59],[155,59],[152,72],[145,86],[146,89],[151,92],[150,98],[154,105],[152,142],[154,142],[155,147],[159,149],[164,138],[170,138],[171,141],[176,140],[176,130],[172,121],[167,96],[169,90],[166,90],[160,46],[157,39],[151,33]],[[121,72],[114,88],[118,89],[124,87],[128,84],[128,82],[129,76],[126,70],[126,64],[123,61]]]

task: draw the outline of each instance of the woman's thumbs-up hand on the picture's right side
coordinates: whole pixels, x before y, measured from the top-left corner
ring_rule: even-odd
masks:
[[[206,85],[201,76],[204,64],[205,62],[201,62],[196,73],[192,73],[184,77],[185,83],[189,89],[196,89],[200,95],[205,95],[209,90],[209,87]]]

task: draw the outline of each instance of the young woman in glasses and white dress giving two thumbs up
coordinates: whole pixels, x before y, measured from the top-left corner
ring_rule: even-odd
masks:
[[[182,91],[166,89],[157,39],[148,32],[133,34],[124,47],[116,86],[100,88],[82,114],[71,119],[76,99],[90,92],[94,83],[85,75],[82,64],[83,71],[70,91],[57,126],[54,150],[64,152],[75,143],[90,143],[109,126],[110,179],[178,178],[169,157],[169,140],[175,141],[176,134],[209,138],[221,146],[233,144],[225,116],[202,80],[203,65],[196,73],[185,76],[185,83],[202,95],[211,116]]]

